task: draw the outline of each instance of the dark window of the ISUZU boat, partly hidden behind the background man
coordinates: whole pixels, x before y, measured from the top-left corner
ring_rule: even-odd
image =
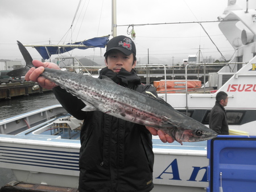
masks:
[[[228,124],[230,125],[238,125],[241,124],[243,116],[245,115],[246,111],[226,111],[226,118],[228,119]],[[203,124],[209,124],[209,116],[210,110],[207,111],[205,114],[205,118],[203,120]]]

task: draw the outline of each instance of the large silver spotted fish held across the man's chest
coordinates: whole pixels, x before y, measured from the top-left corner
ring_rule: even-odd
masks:
[[[18,41],[26,66],[9,72],[9,76],[24,76],[34,66],[27,49]],[[42,76],[55,82],[81,99],[84,111],[102,111],[117,118],[154,127],[170,135],[177,142],[212,139],[217,133],[187,115],[172,108],[162,99],[150,97],[115,84],[110,78],[103,80],[45,68]]]

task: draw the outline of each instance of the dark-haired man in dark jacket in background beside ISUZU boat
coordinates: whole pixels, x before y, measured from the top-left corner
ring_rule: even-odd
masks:
[[[228,120],[225,108],[228,105],[228,94],[220,91],[216,95],[216,102],[210,111],[209,127],[218,135],[229,135]]]

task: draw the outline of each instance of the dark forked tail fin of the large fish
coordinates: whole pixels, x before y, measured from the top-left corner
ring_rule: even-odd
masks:
[[[17,42],[18,42],[19,50],[22,53],[24,60],[26,61],[26,66],[24,66],[23,68],[15,69],[15,70],[12,70],[11,72],[8,72],[7,76],[10,76],[10,77],[25,76],[25,74],[28,72],[28,70],[30,70],[30,68],[35,67],[32,64],[33,59],[31,57],[30,53],[27,51],[27,49],[24,47],[24,45],[22,43],[20,43],[20,41],[17,41]]]

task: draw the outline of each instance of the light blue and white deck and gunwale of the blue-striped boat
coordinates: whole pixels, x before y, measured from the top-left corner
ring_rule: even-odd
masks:
[[[19,119],[19,118],[18,118]],[[71,124],[72,122],[72,124]],[[56,143],[69,143],[78,144],[80,147],[80,130],[82,121],[72,119],[69,114],[63,114],[61,116],[46,120],[43,123],[37,124],[25,131],[22,131],[16,135],[3,135],[2,138],[11,139],[26,139],[31,142],[46,141]],[[155,152],[160,151],[180,151],[181,149],[187,151],[200,151],[201,153],[207,153],[207,141],[200,142],[184,142],[183,145],[177,143],[163,143],[159,140],[158,136],[152,137],[153,149]]]

